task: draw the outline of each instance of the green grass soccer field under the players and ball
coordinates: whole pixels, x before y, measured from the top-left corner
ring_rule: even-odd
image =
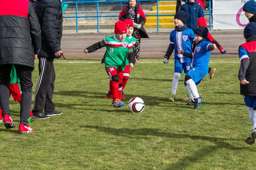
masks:
[[[204,98],[198,109],[180,101],[186,94],[184,74],[178,101],[168,102],[174,64],[163,64],[162,59],[140,59],[124,90],[125,108],[114,108],[111,99],[104,98],[109,77],[100,61],[55,60],[53,100],[63,114],[36,119],[30,124],[34,132],[24,135],[17,127],[0,127],[1,169],[255,169],[256,147],[244,142],[252,125],[239,94],[238,57],[210,60],[216,72],[212,80],[207,75],[198,85]],[[37,80],[38,67],[33,91]],[[142,113],[128,110],[134,96],[145,102]],[[17,125],[19,107],[11,98]]]

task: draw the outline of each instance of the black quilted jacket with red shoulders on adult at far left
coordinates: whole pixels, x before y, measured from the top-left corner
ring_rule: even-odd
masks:
[[[32,4],[0,0],[0,6],[0,65],[34,68],[34,54],[41,48],[41,30]]]

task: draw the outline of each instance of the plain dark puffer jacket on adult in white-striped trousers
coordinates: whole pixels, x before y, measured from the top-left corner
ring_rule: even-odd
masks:
[[[61,50],[62,10],[60,0],[37,0],[35,13],[42,31],[42,48],[39,57],[55,57]]]

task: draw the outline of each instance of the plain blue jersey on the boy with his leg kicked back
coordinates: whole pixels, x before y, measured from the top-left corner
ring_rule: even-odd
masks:
[[[195,51],[192,53],[192,67],[196,68],[202,77],[205,77],[208,73],[209,60],[212,52],[207,50],[209,45],[212,45],[209,41],[200,42],[196,45]]]

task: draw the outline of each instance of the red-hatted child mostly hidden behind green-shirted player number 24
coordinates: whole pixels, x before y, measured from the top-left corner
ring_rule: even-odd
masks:
[[[131,42],[128,44],[128,46],[129,47],[132,46],[132,48],[134,48],[134,45],[136,43],[136,38],[132,36],[133,30],[134,30],[134,23],[132,22],[131,19],[126,19],[124,21],[125,21],[126,26],[127,26],[127,37],[131,40]],[[135,59],[135,63],[136,63],[136,59]],[[105,55],[102,59],[102,64],[105,64]],[[119,85],[119,90],[122,87],[121,96],[119,96],[120,99],[125,99],[125,95],[124,95],[123,90],[124,90],[125,85],[127,84],[127,81],[129,79],[130,69],[131,69],[131,67],[129,65],[129,61],[126,60],[125,70],[123,71],[123,81],[122,81],[122,84]],[[111,82],[112,82],[112,80],[110,80],[110,82],[109,82],[109,91],[108,91],[108,94],[105,96],[106,99],[111,98],[111,96],[112,96]]]

